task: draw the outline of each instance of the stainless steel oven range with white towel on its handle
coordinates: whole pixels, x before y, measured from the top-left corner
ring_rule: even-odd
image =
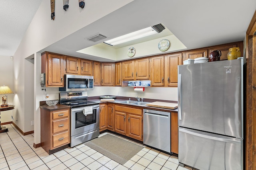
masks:
[[[60,92],[60,104],[70,109],[70,147],[100,135],[100,105],[87,100],[87,92]]]

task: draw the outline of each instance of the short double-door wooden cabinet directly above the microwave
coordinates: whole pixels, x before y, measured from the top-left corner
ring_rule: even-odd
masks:
[[[66,56],[66,73],[92,76],[92,61]]]

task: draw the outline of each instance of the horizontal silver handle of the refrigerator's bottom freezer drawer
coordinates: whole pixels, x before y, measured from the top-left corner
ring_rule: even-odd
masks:
[[[198,136],[198,137],[203,137],[203,138],[212,139],[212,140],[216,140],[216,141],[222,141],[222,142],[234,143],[234,144],[241,145],[241,139],[236,139],[236,138],[232,138],[232,137],[225,137],[225,136],[221,137],[220,135],[214,135],[214,134],[210,134],[210,133],[209,133],[209,135],[204,135],[203,134],[204,132],[194,131],[192,129],[186,130],[186,129],[183,129],[181,127],[179,128],[179,131],[184,132],[184,133],[188,133],[188,134],[191,134],[191,135],[195,135],[195,136]],[[220,137],[217,137],[217,136],[220,136]]]

